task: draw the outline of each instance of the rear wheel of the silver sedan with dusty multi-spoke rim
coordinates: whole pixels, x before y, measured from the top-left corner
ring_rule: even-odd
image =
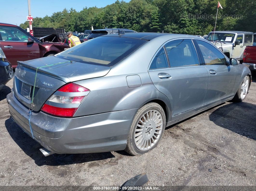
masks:
[[[159,104],[144,105],[133,119],[125,151],[136,156],[154,149],[162,138],[165,125],[165,112]]]

